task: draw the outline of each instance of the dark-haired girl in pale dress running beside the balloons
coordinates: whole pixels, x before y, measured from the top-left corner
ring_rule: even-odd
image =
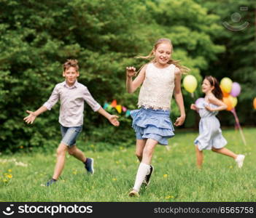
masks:
[[[234,158],[238,163],[238,168],[241,168],[244,163],[244,155],[237,155],[224,148],[227,141],[222,136],[220,121],[216,117],[218,111],[227,109],[227,105],[222,102],[219,82],[213,76],[206,76],[203,80],[202,91],[206,94],[204,100],[198,105],[192,104],[190,106],[192,110],[197,110],[201,117],[199,136],[194,141],[198,168],[201,168],[203,163],[203,150],[212,150]]]

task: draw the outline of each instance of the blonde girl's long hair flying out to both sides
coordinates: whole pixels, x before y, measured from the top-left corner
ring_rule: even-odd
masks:
[[[155,62],[154,52],[155,52],[156,49],[158,49],[158,46],[160,44],[163,44],[163,43],[170,44],[171,45],[171,52],[173,52],[173,45],[171,43],[171,40],[167,39],[167,38],[162,38],[162,39],[158,39],[158,41],[155,42],[154,47],[153,47],[153,49],[152,49],[152,51],[150,52],[149,55],[147,55],[147,56],[137,56],[136,58],[142,58],[142,59],[150,60],[150,62]],[[182,73],[187,73],[187,72],[190,71],[190,68],[187,68],[187,67],[181,65],[179,63],[179,60],[174,60],[174,59],[170,58],[170,60],[168,60],[168,64],[174,64],[175,66],[177,66],[177,68],[179,68],[179,70],[181,70]],[[139,68],[138,73],[140,72],[140,70],[143,67],[144,67],[144,65],[142,65],[141,68]]]

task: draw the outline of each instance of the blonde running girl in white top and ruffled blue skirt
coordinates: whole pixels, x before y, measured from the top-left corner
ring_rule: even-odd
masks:
[[[150,62],[141,67],[134,80],[132,77],[136,75],[136,69],[126,68],[128,93],[135,92],[142,84],[139,92],[139,110],[131,111],[132,126],[136,132],[136,156],[141,163],[130,196],[139,196],[143,182],[149,184],[153,171],[150,163],[155,146],[168,145],[168,138],[174,136],[174,127],[170,120],[173,93],[180,111],[180,117],[174,125],[181,126],[185,121],[180,81],[182,71],[187,71],[188,68],[171,59],[172,50],[169,39],[159,39],[150,55],[141,57],[149,59]]]

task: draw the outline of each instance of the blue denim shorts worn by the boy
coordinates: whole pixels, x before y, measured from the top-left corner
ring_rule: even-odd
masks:
[[[82,126],[65,127],[61,125],[61,142],[71,148],[73,145],[76,145],[76,140],[80,132],[82,132]]]

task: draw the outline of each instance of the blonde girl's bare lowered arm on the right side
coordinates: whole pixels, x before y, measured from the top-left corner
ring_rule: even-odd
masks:
[[[182,80],[182,72],[179,68],[175,68],[175,87],[174,87],[174,97],[179,107],[180,116],[175,121],[175,126],[181,126],[186,118],[184,102],[182,97],[182,89],[181,89],[181,80]]]

